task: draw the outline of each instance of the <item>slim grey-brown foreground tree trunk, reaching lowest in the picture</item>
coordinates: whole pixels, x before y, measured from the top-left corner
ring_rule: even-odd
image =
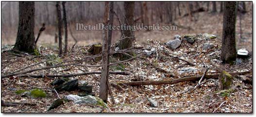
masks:
[[[105,1],[105,14],[104,14],[104,26],[108,24],[108,17],[109,17],[109,1]],[[103,44],[102,44],[102,76],[100,82],[100,98],[107,102],[107,78],[108,78],[108,30],[103,30]]]

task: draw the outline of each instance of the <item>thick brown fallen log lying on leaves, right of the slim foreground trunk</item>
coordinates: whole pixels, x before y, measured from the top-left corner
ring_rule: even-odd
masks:
[[[247,71],[247,72],[238,72],[238,73],[230,73],[231,75],[236,75],[236,74],[247,74],[251,73],[252,71]],[[178,78],[178,79],[173,79],[173,80],[162,80],[162,81],[134,81],[134,82],[118,82],[117,85],[130,85],[130,86],[141,86],[141,85],[165,85],[165,84],[176,84],[180,82],[188,82],[188,81],[196,81],[199,80],[202,77],[202,75],[196,75],[196,76],[191,76],[191,77],[183,77],[183,78]],[[219,74],[209,74],[205,75],[206,79],[213,78],[213,79],[218,79]]]

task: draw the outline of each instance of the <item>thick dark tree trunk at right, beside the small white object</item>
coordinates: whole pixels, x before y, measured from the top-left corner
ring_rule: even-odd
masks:
[[[236,2],[225,1],[223,13],[222,54],[223,63],[233,63],[237,57],[236,50]]]

